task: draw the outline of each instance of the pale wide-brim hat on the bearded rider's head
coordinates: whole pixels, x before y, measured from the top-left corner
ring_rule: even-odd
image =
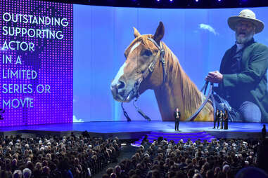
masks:
[[[253,11],[249,9],[244,9],[239,13],[238,16],[231,16],[228,19],[229,27],[232,30],[236,31],[236,25],[239,22],[239,20],[247,20],[253,22],[253,24],[256,27],[255,34],[262,32],[262,29],[264,28],[264,23],[261,20],[257,20],[255,13],[253,13]]]

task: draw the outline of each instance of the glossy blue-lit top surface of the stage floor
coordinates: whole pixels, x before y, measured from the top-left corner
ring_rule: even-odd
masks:
[[[179,123],[181,132],[261,132],[263,123],[229,123],[229,130],[213,129],[212,122],[187,122]],[[107,121],[87,123],[58,123],[46,125],[27,125],[14,127],[1,127],[0,132],[15,130],[39,130],[39,131],[84,131],[98,133],[113,132],[174,132],[174,122],[162,121]]]

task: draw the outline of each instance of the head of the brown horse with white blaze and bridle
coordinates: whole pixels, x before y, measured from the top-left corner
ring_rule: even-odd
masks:
[[[162,84],[164,78],[159,62],[159,46],[164,33],[162,22],[159,23],[154,35],[141,35],[134,28],[135,39],[125,50],[127,60],[110,85],[115,100],[130,102],[145,90]]]

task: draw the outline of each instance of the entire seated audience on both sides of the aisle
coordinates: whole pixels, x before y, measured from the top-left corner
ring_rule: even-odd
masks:
[[[89,137],[0,138],[0,178],[94,177],[110,163],[103,178],[203,177],[231,178],[244,167],[257,166],[257,140],[181,140],[177,144],[159,137],[143,139],[131,158],[117,162],[121,141]],[[266,173],[264,173],[266,174]]]

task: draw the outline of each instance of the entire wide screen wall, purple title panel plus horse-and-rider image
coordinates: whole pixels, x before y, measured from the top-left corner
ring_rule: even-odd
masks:
[[[210,71],[224,74],[217,109],[231,121],[268,122],[268,30],[251,33],[267,23],[268,8],[250,8],[256,18],[245,11],[254,25],[239,21],[236,34],[227,20],[243,8],[0,3],[0,126],[127,121],[122,103],[132,121],[146,121],[139,109],[152,121],[174,121],[176,108],[182,121],[213,121],[212,99],[190,118],[206,100],[200,89]],[[257,43],[240,53],[236,39],[250,35]],[[223,59],[226,50],[238,68]],[[236,117],[239,109],[249,119]]]

